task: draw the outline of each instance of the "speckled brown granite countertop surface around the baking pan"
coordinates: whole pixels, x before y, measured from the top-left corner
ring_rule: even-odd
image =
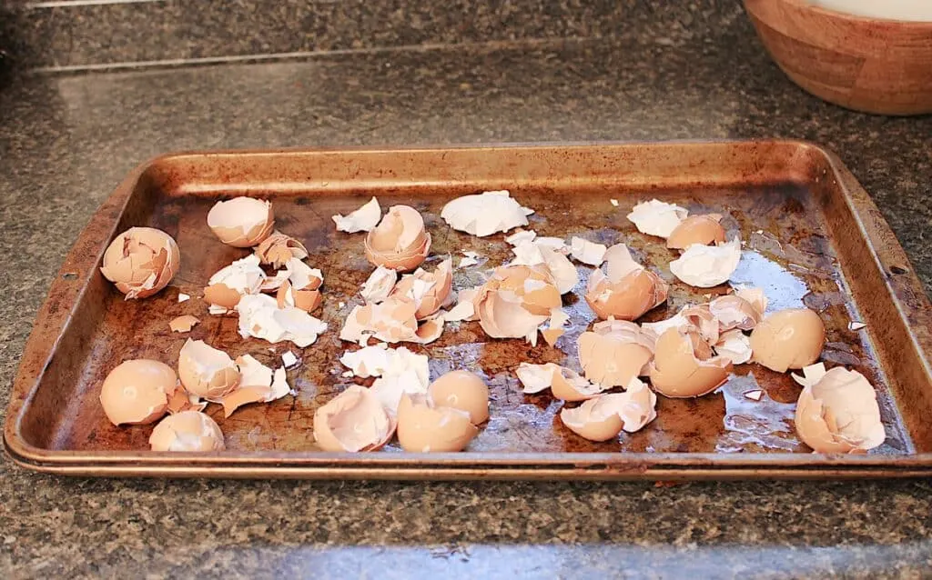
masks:
[[[788,137],[836,151],[932,287],[932,117],[791,85],[744,19],[714,34],[109,74],[0,90],[0,409],[65,252],[129,169],[197,148]],[[2,411],[0,411],[2,412]],[[913,577],[932,487],[877,482],[67,479],[0,462],[5,577]]]

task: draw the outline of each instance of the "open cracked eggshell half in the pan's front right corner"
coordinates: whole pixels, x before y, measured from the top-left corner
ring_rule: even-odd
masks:
[[[809,384],[796,403],[803,443],[819,453],[864,453],[884,442],[877,393],[864,375],[843,367],[826,372],[821,363],[803,372]]]

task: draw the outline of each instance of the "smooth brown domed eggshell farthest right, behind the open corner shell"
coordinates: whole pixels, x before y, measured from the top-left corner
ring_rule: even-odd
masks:
[[[811,365],[822,354],[825,325],[808,308],[790,308],[764,318],[751,332],[754,361],[771,371]]]

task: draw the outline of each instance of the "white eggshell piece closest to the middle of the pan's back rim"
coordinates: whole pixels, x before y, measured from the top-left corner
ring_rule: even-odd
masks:
[[[440,217],[455,230],[484,237],[528,225],[532,213],[533,209],[522,208],[502,190],[457,197],[444,206]]]

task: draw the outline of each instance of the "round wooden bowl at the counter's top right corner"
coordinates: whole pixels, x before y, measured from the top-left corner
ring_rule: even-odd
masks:
[[[744,2],[777,65],[816,97],[867,113],[932,113],[932,22],[851,16],[806,0]]]

